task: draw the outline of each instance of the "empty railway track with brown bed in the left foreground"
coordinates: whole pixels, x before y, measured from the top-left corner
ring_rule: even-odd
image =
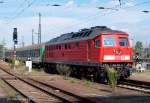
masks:
[[[21,94],[31,103],[93,103],[87,98],[68,93],[58,88],[51,87],[31,78],[22,78],[3,68],[0,68],[13,78],[2,77],[1,79]]]

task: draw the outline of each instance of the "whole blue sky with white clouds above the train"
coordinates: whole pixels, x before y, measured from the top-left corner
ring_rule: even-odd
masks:
[[[105,25],[130,34],[136,41],[150,43],[150,0],[0,0],[0,42],[5,39],[13,47],[13,28],[18,28],[18,46],[24,37],[25,45],[37,43],[38,13],[42,14],[42,41],[62,33],[78,31],[91,26]],[[53,4],[62,6],[53,7]],[[116,10],[99,10],[97,7]]]

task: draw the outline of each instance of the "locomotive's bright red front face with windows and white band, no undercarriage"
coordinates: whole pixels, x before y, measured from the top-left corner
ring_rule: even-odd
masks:
[[[102,51],[102,62],[132,62],[127,35],[103,35]]]

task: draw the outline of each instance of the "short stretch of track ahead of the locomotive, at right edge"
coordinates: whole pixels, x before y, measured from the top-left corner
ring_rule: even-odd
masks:
[[[138,81],[138,80],[125,80],[120,82],[118,87],[136,90],[144,93],[150,94],[150,82]]]

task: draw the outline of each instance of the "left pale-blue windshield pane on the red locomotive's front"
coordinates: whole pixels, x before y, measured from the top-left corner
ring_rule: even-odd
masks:
[[[104,46],[115,46],[116,38],[115,37],[104,37]]]

